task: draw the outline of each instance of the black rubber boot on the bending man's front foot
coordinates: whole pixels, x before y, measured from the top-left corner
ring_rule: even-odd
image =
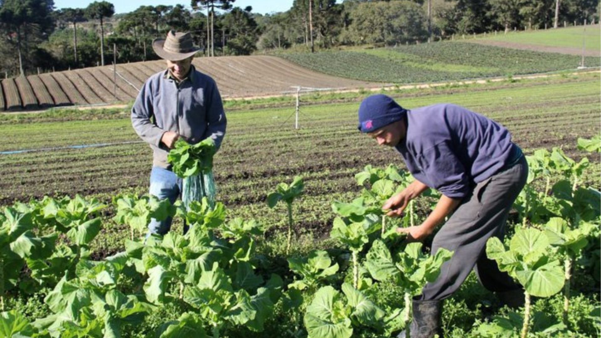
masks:
[[[397,338],[432,338],[436,334],[442,337],[442,301],[413,300],[413,321],[409,325],[409,334],[403,330]]]

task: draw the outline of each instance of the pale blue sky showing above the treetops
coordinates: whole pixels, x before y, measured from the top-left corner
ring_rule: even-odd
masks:
[[[182,4],[184,7],[190,9],[190,0],[107,0],[115,6],[115,13],[129,13],[134,11],[136,8],[145,6],[156,6],[156,5],[177,5]],[[85,8],[94,2],[94,0],[54,0],[54,7],[59,8]],[[236,0],[234,2],[235,7],[245,8],[246,6],[252,6],[252,13],[267,14],[272,12],[287,11],[292,7],[293,0]]]

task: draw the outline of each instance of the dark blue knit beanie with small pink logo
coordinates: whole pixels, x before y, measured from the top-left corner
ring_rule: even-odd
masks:
[[[384,94],[369,96],[359,106],[359,131],[368,133],[396,122],[407,114],[394,100]]]

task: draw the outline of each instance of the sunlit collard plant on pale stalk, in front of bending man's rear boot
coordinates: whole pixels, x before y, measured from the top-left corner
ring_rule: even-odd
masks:
[[[508,248],[496,237],[486,243],[486,255],[499,269],[516,278],[524,287],[525,309],[521,337],[528,336],[530,296],[551,297],[564,286],[560,262],[549,253],[549,239],[537,229],[517,229]]]

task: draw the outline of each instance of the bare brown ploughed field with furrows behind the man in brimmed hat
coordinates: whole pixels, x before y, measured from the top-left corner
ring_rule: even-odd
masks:
[[[270,56],[197,58],[194,65],[212,76],[224,97],[265,96],[293,90],[291,86],[318,88],[376,88],[382,84],[324,75]],[[0,111],[19,111],[64,105],[130,102],[164,61],[90,67],[65,72],[4,79],[0,85]],[[116,90],[115,90],[116,85]]]

